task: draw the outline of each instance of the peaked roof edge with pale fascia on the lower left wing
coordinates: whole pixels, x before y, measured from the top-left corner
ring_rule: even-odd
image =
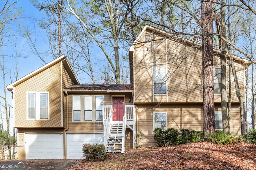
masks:
[[[60,61],[63,61],[63,65],[65,66],[65,68],[67,69],[67,72],[69,73],[70,78],[72,79],[73,82],[75,82],[75,84],[79,84],[78,79],[76,78],[76,75],[74,74],[74,71],[71,69],[69,62],[67,61],[67,58],[65,57],[65,55],[62,55],[61,57],[56,58],[55,60],[52,60],[51,62],[45,64],[44,66],[36,69],[35,71],[32,71],[31,73],[29,73],[28,75],[25,75],[24,77],[20,78],[19,80],[9,84],[6,88],[7,90],[13,90],[13,88],[15,86],[17,86],[18,84],[30,79],[31,77],[37,75],[38,73],[41,73],[42,71],[50,68],[51,66],[54,66],[55,64],[59,63]]]

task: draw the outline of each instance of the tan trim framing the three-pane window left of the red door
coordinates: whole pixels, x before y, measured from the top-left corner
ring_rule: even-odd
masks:
[[[73,96],[80,96],[80,104],[81,104],[81,120],[80,121],[74,121],[74,114],[73,114]],[[84,97],[85,96],[91,96],[92,97],[92,120],[91,121],[85,121],[84,120]],[[96,121],[96,96],[103,96],[103,105],[105,103],[105,95],[71,95],[72,100],[72,122],[102,122],[102,121]]]

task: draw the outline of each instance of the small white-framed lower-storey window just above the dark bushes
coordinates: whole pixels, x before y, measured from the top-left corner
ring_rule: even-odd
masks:
[[[167,113],[166,112],[153,112],[154,130],[156,128],[167,129]]]

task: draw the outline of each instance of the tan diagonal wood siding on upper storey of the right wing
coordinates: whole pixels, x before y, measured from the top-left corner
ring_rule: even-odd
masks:
[[[152,33],[146,30],[145,33]],[[202,102],[202,51],[200,48],[176,42],[177,39],[166,38],[153,33],[153,42],[134,46],[134,91],[135,103],[167,102],[164,95],[153,97],[153,66],[167,65],[168,102]],[[143,37],[143,36],[142,36]],[[143,42],[143,38],[139,41]],[[151,46],[152,44],[152,46]],[[166,60],[167,55],[167,60]],[[220,66],[219,55],[214,54],[214,66]],[[235,61],[239,88],[244,95],[244,67]],[[228,80],[227,62],[227,80]],[[228,87],[228,81],[226,86]],[[228,88],[227,88],[228,92]],[[232,102],[238,102],[232,75]],[[153,101],[154,99],[154,101]],[[220,95],[215,94],[215,102],[220,102]]]

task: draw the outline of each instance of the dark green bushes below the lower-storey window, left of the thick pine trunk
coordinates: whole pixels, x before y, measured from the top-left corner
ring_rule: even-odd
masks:
[[[179,132],[174,128],[168,128],[167,130],[156,128],[154,130],[154,139],[156,140],[157,146],[174,146],[198,142],[203,139],[203,132],[189,129],[181,129]]]

